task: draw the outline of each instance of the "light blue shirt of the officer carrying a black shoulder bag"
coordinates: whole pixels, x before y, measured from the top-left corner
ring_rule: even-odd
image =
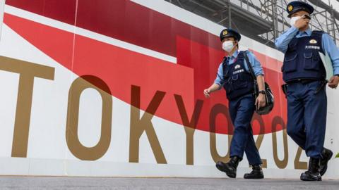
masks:
[[[247,52],[247,56],[249,57],[249,62],[251,62],[254,75],[256,75],[256,77],[258,77],[258,75],[263,75],[263,68],[261,68],[261,64],[258,61],[258,59],[256,59],[256,56],[254,56],[254,54],[251,51],[246,51],[246,52]],[[236,61],[238,54],[239,54],[239,51],[237,50],[233,53],[232,56],[227,56],[227,58],[229,59],[228,65],[231,65],[234,63],[234,61]],[[244,67],[246,71],[249,72],[249,67],[247,66],[246,60],[244,60]],[[222,82],[223,77],[224,77],[224,70],[222,69],[222,63],[220,63],[219,68],[218,68],[217,78],[214,81],[214,83],[218,84],[220,88],[223,86],[223,82]]]

